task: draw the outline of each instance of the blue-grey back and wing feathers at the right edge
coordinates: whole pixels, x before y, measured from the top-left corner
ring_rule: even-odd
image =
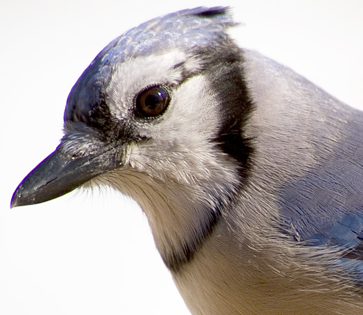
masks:
[[[286,183],[279,207],[297,242],[342,250],[344,269],[351,268],[363,284],[363,113],[344,112],[339,142],[320,129],[320,153],[329,152],[306,175]],[[318,129],[319,130],[319,129]],[[333,150],[332,150],[333,148]]]

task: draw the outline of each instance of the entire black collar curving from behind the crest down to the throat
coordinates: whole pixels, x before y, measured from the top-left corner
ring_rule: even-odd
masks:
[[[250,159],[253,154],[252,140],[244,137],[243,126],[254,108],[243,79],[243,55],[234,44],[210,50],[204,49],[196,54],[202,58],[201,71],[210,78],[220,104],[221,128],[213,142],[238,164],[242,188],[248,179],[251,169]],[[232,190],[226,191],[225,195],[229,195],[232,200],[234,193]],[[203,246],[203,242],[220,222],[226,201],[222,201],[220,196],[216,195],[214,204],[216,204],[214,209],[205,209],[205,213],[209,213],[210,220],[198,231],[198,240],[185,244],[182,252],[174,251],[169,257],[164,258],[165,265],[172,271],[182,269],[187,262],[193,260],[196,251]]]

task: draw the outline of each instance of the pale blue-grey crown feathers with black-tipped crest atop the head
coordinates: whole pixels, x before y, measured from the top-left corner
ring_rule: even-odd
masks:
[[[236,25],[224,12],[223,7],[194,8],[152,19],[111,41],[97,59],[102,59],[102,65],[116,65],[128,57],[162,54],[174,48],[187,52],[210,47],[226,39],[225,28]]]

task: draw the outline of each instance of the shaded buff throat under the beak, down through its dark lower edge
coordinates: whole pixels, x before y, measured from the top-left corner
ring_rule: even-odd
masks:
[[[113,176],[113,187],[131,196],[145,212],[156,247],[171,271],[194,259],[195,252],[218,225],[225,204],[230,202],[228,198],[233,196],[227,184],[213,180],[210,182],[218,187],[198,190],[201,187],[172,180],[166,184],[131,168],[116,172],[106,176]]]

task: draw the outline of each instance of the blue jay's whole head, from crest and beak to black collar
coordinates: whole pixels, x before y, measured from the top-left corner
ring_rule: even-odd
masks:
[[[64,137],[15,191],[12,207],[106,185],[145,211],[178,269],[248,178],[252,102],[227,8],[153,19],[113,40],[68,96]]]

